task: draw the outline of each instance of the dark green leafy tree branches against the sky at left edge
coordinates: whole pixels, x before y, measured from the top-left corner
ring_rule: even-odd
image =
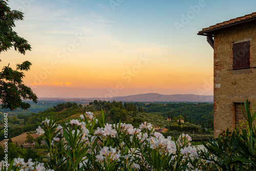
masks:
[[[8,0],[0,1],[0,53],[14,48],[19,53],[25,55],[25,52],[27,50],[31,51],[32,48],[27,40],[19,37],[12,29],[15,27],[15,20],[23,20],[23,13],[11,10],[7,2]],[[16,65],[16,70],[12,70],[8,65],[0,72],[0,99],[2,109],[13,111],[17,108],[24,110],[30,108],[30,104],[24,102],[22,99],[30,99],[34,103],[37,103],[37,96],[32,92],[31,88],[25,86],[23,83],[25,74],[22,71],[28,71],[31,65],[29,61],[24,61],[22,64]]]

